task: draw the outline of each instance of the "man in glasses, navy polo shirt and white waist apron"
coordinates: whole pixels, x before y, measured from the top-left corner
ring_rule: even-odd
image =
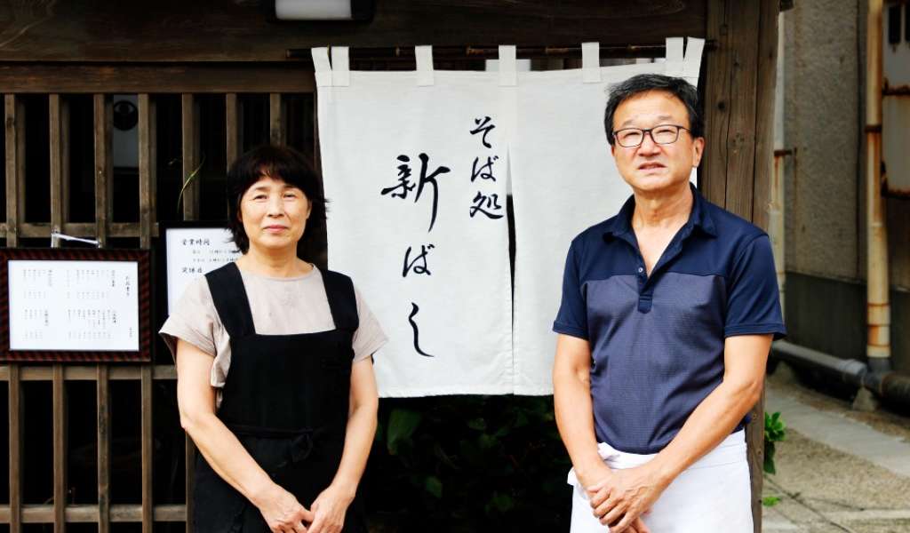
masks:
[[[744,417],[785,330],[768,237],[690,186],[697,104],[664,75],[607,103],[633,195],[572,241],[553,324],[575,533],[753,530]]]

